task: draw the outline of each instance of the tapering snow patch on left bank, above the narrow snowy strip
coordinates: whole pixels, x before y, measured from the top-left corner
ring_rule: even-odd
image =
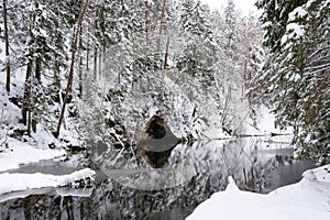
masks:
[[[37,148],[12,138],[8,138],[7,144],[7,152],[0,153],[0,172],[19,168],[20,164],[51,160],[66,154],[64,150]]]

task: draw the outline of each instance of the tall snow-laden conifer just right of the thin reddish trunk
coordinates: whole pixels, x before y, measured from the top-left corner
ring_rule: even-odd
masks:
[[[215,64],[218,45],[207,16],[208,8],[200,1],[186,0],[182,4],[180,23],[183,51],[177,57],[180,86],[195,106],[197,123],[209,123],[211,112],[206,102],[211,101],[215,85]],[[215,106],[212,106],[215,107]],[[193,112],[193,110],[191,110]],[[190,128],[191,129],[191,128]]]

